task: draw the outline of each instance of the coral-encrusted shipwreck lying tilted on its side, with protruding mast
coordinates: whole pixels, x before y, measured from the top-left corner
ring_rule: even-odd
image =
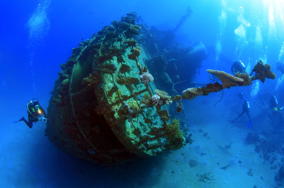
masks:
[[[207,58],[206,48],[197,42],[164,49],[155,42],[151,29],[145,23],[137,25],[137,21],[136,12],[127,13],[121,21],[113,21],[82,41],[72,49],[72,57],[60,65],[45,132],[49,141],[67,154],[92,163],[119,165],[178,150],[192,139],[191,134],[181,131],[179,120],[171,118],[173,101],[180,112],[182,98],[251,84],[248,75],[234,77],[209,70],[224,84],[191,87],[182,92],[183,96],[178,95],[176,83],[193,80],[183,82],[175,75],[188,70],[193,78]],[[191,70],[187,63],[194,59],[200,63]],[[265,66],[262,63],[259,68],[262,79],[264,72],[270,71]],[[260,79],[255,72],[254,78]]]

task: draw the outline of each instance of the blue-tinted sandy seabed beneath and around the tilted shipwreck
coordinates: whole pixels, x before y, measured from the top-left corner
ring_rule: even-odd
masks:
[[[245,142],[247,133],[255,130],[253,115],[252,127],[247,128],[246,116],[231,124],[238,114],[232,115],[222,103],[214,108],[214,102],[200,98],[186,105],[191,106],[185,119],[193,144],[115,167],[90,165],[64,154],[44,137],[43,124],[29,129],[24,123],[4,120],[0,184],[38,188],[276,186],[278,168],[270,169],[272,164],[254,151],[254,144]],[[277,158],[279,162],[281,156]],[[190,167],[190,160],[196,166]]]

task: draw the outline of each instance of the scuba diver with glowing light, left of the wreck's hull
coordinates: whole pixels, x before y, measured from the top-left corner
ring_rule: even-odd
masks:
[[[34,101],[33,101],[34,100]],[[17,123],[20,121],[24,121],[29,128],[33,127],[33,122],[41,121],[42,123],[47,122],[46,114],[43,108],[39,105],[39,101],[33,98],[31,101],[28,102],[28,120],[25,120],[24,116],[18,120],[14,121],[13,123]]]

